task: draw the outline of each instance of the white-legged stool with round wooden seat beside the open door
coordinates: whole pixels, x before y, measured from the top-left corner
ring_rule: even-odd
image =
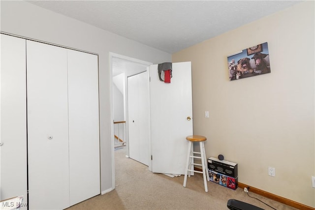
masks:
[[[204,141],[207,140],[204,136],[187,136],[186,139],[189,141],[188,152],[187,152],[187,163],[185,169],[185,178],[183,186],[186,187],[187,175],[193,175],[193,172],[203,174],[203,182],[205,184],[205,191],[208,192],[207,180],[210,181],[209,172],[208,172],[208,162],[206,158]],[[193,151],[193,142],[199,142],[200,152]],[[194,154],[200,154],[200,156],[194,156]],[[193,163],[193,158],[201,159],[201,164]],[[194,166],[202,166],[201,171],[195,171]]]

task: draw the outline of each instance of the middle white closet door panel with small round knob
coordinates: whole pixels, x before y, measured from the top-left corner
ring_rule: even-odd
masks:
[[[30,209],[69,207],[67,50],[27,41]]]

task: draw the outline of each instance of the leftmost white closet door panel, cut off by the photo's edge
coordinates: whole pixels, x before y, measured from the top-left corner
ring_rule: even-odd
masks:
[[[26,40],[4,34],[0,40],[0,200],[23,195],[27,203]]]

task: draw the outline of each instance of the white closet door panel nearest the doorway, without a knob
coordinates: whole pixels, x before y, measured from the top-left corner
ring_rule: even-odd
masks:
[[[100,193],[97,56],[68,50],[70,205]]]

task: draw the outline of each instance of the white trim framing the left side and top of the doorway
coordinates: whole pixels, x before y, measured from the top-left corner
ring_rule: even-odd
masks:
[[[114,110],[113,110],[113,59],[118,58],[121,60],[126,60],[127,62],[133,62],[133,63],[138,63],[142,65],[147,65],[150,66],[153,63],[144,61],[144,60],[139,60],[139,59],[134,59],[130,58],[127,56],[119,55],[116,53],[109,52],[109,90],[110,90],[110,138],[111,138],[111,156],[112,156],[112,189],[115,189],[115,154],[114,154]],[[148,71],[148,68],[147,68]],[[149,75],[149,74],[148,74]],[[126,96],[125,96],[126,98]],[[126,109],[126,108],[125,108]],[[125,114],[127,117],[127,113]],[[126,130],[127,130],[127,119],[126,119]],[[127,136],[126,136],[127,138]],[[150,152],[151,153],[151,152]],[[150,161],[151,162],[151,161]],[[149,165],[149,170],[151,170],[151,163]]]

